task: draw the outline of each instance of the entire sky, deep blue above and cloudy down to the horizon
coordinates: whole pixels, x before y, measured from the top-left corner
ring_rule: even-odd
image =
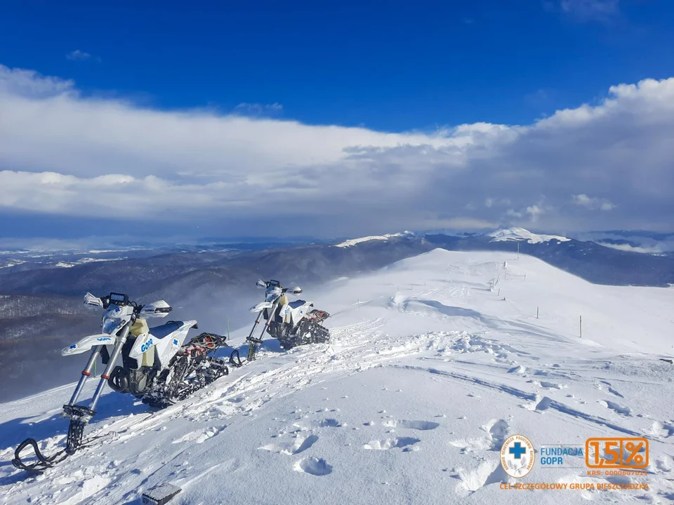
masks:
[[[672,231],[674,5],[0,3],[0,238]]]

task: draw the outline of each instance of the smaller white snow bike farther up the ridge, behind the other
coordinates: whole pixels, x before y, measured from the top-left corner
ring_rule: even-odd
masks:
[[[255,359],[257,346],[262,344],[262,337],[269,333],[272,338],[278,339],[283,349],[291,349],[294,346],[302,344],[312,344],[328,342],[330,332],[321,325],[323,321],[329,318],[330,314],[326,311],[311,309],[314,306],[312,302],[296,300],[289,302],[286,292],[293,295],[300,295],[302,289],[283,288],[279,281],[258,281],[258,288],[265,289],[265,301],[258,303],[251,308],[253,314],[258,313],[258,317],[253,324],[250,335],[246,338],[250,342],[248,359]],[[261,318],[265,318],[265,325],[260,333],[260,337],[253,337],[255,328],[260,323]]]

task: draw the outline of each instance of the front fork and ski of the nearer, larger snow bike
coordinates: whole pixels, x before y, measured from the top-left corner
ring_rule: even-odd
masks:
[[[100,376],[100,382],[98,383],[98,387],[93,394],[93,398],[91,398],[91,403],[89,403],[88,407],[85,407],[84,405],[77,405],[77,399],[79,398],[82,389],[84,389],[84,383],[86,382],[86,379],[91,377],[91,370],[93,369],[93,365],[100,354],[100,346],[95,346],[91,350],[91,356],[89,356],[89,360],[86,363],[86,368],[84,368],[82,371],[82,376],[75,387],[75,391],[73,391],[72,396],[70,397],[70,401],[67,403],[67,405],[63,405],[62,415],[64,417],[70,418],[70,426],[68,426],[68,436],[65,450],[61,450],[51,457],[45,457],[44,454],[40,452],[39,447],[37,447],[37,442],[33,438],[27,438],[22,443],[20,443],[20,445],[14,451],[14,459],[12,459],[12,464],[16,468],[42,473],[55,464],[62,462],[66,457],[72,456],[72,454],[77,452],[77,450],[83,445],[84,427],[88,424],[91,417],[93,417],[96,413],[95,408],[98,404],[101,393],[103,393],[103,386],[105,386],[107,379],[110,378],[110,373],[112,372],[112,368],[114,368],[114,363],[117,361],[117,358],[121,353],[121,348],[126,342],[130,324],[131,323],[128,323],[124,327],[124,330],[121,331],[121,335],[117,337],[114,344],[114,350],[112,351],[112,356],[110,356],[110,361],[107,363],[107,368],[105,368],[105,372],[103,372],[103,374]],[[33,451],[35,452],[37,462],[26,464],[22,461],[21,452],[28,446],[32,447]]]

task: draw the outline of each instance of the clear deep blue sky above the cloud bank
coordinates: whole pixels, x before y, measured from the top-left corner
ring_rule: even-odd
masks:
[[[0,62],[156,107],[277,103],[268,114],[391,131],[529,123],[670,76],[674,5],[612,6],[8,0]]]

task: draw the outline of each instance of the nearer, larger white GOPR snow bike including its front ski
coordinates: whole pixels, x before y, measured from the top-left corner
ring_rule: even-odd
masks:
[[[90,445],[93,439],[83,440],[84,427],[95,415],[106,383],[114,391],[130,393],[143,403],[164,408],[229,373],[225,361],[209,356],[221,346],[227,346],[226,337],[201,333],[183,344],[188,330],[197,329],[197,321],[169,321],[155,328],[147,326],[146,318],[164,318],[173,310],[164,300],[140,305],[121,293],[111,292],[104,297],[87,293],[84,304],[105,309],[105,313],[99,334],[84,337],[61,351],[63,356],[69,356],[91,349],[72,397],[67,405],[63,405],[63,417],[70,418],[66,447],[51,457],[44,457],[37,442],[27,438],[14,452],[12,464],[18,469],[41,473],[79,448]],[[116,365],[120,355],[122,365]],[[98,356],[107,365],[105,372],[100,376],[88,406],[78,405],[77,400]],[[241,365],[237,350],[232,351],[230,363],[237,367]],[[29,446],[37,461],[27,464],[22,461],[21,452]]]

